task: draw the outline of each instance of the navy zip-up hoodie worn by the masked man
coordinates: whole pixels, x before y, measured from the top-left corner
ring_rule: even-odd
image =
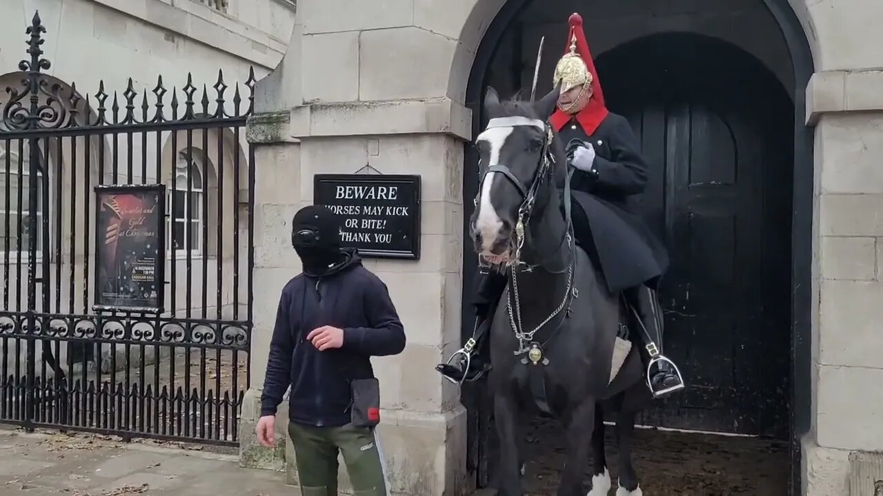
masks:
[[[260,414],[275,415],[291,385],[291,421],[315,426],[350,423],[350,381],[374,377],[370,357],[404,349],[404,327],[389,291],[354,252],[329,274],[299,274],[282,291]],[[306,340],[318,327],[343,329],[343,347],[320,351]]]

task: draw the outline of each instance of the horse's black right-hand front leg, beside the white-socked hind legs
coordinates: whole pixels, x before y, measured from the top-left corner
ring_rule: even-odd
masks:
[[[567,422],[567,462],[558,496],[583,496],[583,474],[589,464],[589,448],[595,427],[595,399],[587,397],[570,412]]]

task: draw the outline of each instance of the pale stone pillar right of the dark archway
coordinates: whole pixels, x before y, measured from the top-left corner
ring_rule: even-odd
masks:
[[[807,88],[816,124],[817,238],[812,431],[804,495],[883,485],[883,72],[824,71]]]

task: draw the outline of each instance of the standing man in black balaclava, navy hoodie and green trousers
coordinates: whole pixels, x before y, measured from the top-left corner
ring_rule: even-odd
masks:
[[[355,496],[387,494],[374,431],[380,385],[370,358],[401,353],[404,327],[386,285],[355,250],[341,247],[340,223],[327,207],[294,215],[291,244],[304,270],[279,300],[258,440],[275,447],[275,413],[291,387],[288,432],[301,494],[337,495],[338,452]]]

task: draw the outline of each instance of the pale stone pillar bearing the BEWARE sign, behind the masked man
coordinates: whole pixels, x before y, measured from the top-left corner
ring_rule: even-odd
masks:
[[[421,258],[365,261],[389,287],[407,334],[401,355],[374,359],[383,409],[379,432],[394,493],[448,495],[464,488],[465,410],[457,388],[434,364],[460,341],[460,185],[468,115],[446,98],[315,103],[292,113],[305,204],[312,202],[312,177],[320,172],[352,173],[369,164],[382,174],[421,176]]]

